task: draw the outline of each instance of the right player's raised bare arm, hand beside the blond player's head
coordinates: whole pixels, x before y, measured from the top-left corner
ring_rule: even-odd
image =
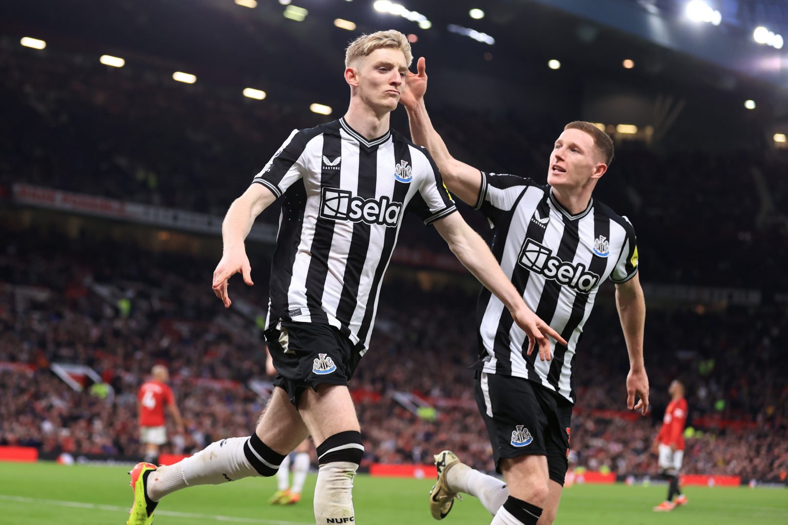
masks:
[[[400,98],[400,103],[405,107],[407,118],[411,124],[411,139],[419,146],[426,147],[429,154],[435,159],[448,190],[466,204],[475,206],[481,187],[481,172],[452,157],[445,142],[433,128],[433,123],[429,120],[429,114],[424,104],[424,94],[427,90],[424,57],[418,59],[416,67],[418,74],[407,72],[405,88]]]

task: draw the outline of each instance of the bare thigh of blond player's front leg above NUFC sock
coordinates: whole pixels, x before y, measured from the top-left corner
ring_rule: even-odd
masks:
[[[344,385],[322,383],[304,390],[298,410],[316,446],[334,434],[361,430],[350,390]]]

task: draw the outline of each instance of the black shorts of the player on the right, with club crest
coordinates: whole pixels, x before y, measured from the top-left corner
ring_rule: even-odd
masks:
[[[476,404],[485,420],[496,471],[500,460],[546,456],[550,479],[563,486],[569,466],[572,404],[528,379],[476,372]]]

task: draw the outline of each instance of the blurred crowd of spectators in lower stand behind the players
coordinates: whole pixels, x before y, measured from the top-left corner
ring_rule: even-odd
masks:
[[[205,283],[213,261],[140,253],[111,242],[16,235],[0,253],[0,444],[44,453],[138,457],[136,389],[153,364],[169,366],[187,432],[167,450],[190,453],[246,435],[266,395],[258,309],[265,293],[233,287],[225,310]],[[265,264],[256,265],[261,277]],[[472,394],[474,302],[459,288],[385,283],[370,352],[351,382],[366,462],[430,463],[455,449],[492,469]],[[646,325],[652,413],[622,419],[628,369],[609,298],[586,325],[576,370],[573,460],[620,474],[655,474],[649,453],[667,405],[667,384],[688,386],[686,471],[780,480],[788,470],[786,312],[776,306],[719,312],[656,309]],[[72,390],[53,363],[85,364],[111,395]],[[398,394],[436,408],[418,412]],[[604,412],[602,412],[604,411]],[[418,415],[417,415],[418,414]],[[624,416],[626,417],[626,416]],[[740,424],[727,426],[725,421]]]

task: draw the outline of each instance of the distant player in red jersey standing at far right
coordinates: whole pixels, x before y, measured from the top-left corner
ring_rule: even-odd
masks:
[[[687,401],[684,399],[684,385],[675,379],[668,387],[667,393],[671,394],[671,402],[665,410],[660,433],[656,434],[655,452],[660,454],[660,471],[667,477],[670,487],[667,490],[667,500],[654,507],[657,512],[673,510],[678,505],[685,505],[687,497],[682,494],[678,486],[678,471],[682,468],[684,460],[684,426],[687,422]],[[673,497],[676,501],[673,501]]]

